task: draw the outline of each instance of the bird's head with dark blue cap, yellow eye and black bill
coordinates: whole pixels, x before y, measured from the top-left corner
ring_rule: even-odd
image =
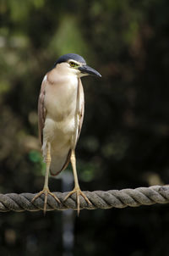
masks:
[[[85,62],[85,59],[78,54],[68,53],[57,59],[55,68],[63,71],[63,74],[77,75],[82,77],[85,75],[94,75],[101,77],[101,74],[90,68]]]

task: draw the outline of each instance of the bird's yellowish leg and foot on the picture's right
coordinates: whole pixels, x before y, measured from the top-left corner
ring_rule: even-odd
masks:
[[[79,215],[79,195],[81,195],[87,203],[89,204],[91,203],[90,203],[90,200],[85,196],[85,193],[82,192],[79,188],[79,181],[78,181],[78,175],[76,170],[76,158],[75,158],[74,150],[72,150],[70,161],[71,161],[73,172],[74,172],[74,190],[68,193],[66,198],[64,198],[64,201],[67,200],[72,194],[76,193],[77,210]]]

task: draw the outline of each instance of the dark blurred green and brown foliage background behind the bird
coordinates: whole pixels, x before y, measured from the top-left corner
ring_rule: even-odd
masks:
[[[58,57],[79,53],[86,77],[77,147],[82,190],[169,180],[169,1],[0,1],[0,192],[39,192],[41,81]],[[63,191],[63,176],[50,178]],[[73,184],[71,184],[73,186]],[[72,187],[69,188],[69,190]],[[168,256],[169,206],[1,213],[1,255]]]

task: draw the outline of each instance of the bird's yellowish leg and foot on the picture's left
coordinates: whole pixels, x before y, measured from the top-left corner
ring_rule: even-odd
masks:
[[[43,189],[41,192],[39,192],[33,199],[32,202],[35,201],[36,198],[39,198],[41,196],[41,194],[45,195],[45,200],[44,200],[44,209],[43,212],[44,214],[46,214],[46,204],[47,204],[47,195],[50,194],[53,198],[55,198],[55,200],[57,201],[57,203],[61,203],[60,200],[49,190],[48,187],[48,179],[49,179],[49,170],[50,170],[50,165],[51,165],[51,144],[47,143],[47,152],[46,152],[46,174],[45,174],[45,183],[43,186]]]

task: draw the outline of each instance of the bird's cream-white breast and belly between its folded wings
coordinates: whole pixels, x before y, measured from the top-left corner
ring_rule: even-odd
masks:
[[[43,136],[46,141],[67,147],[74,135],[78,79],[68,75],[57,82],[46,81],[46,121]]]

